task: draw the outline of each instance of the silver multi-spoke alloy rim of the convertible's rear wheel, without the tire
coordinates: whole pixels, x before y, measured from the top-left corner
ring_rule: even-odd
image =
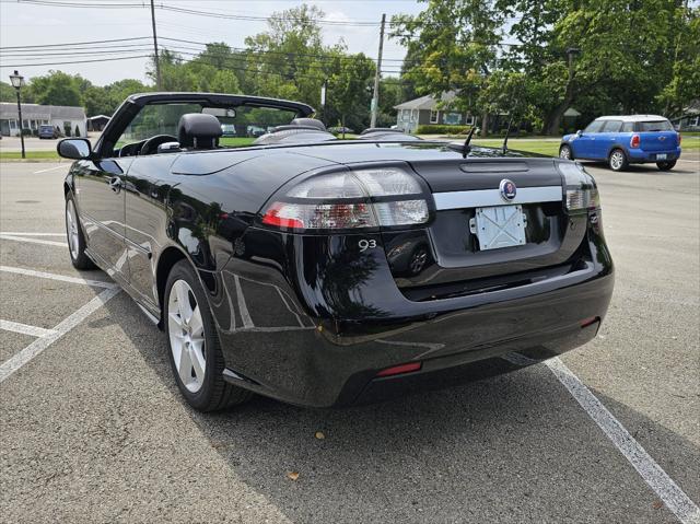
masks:
[[[185,280],[173,282],[167,299],[167,326],[173,362],[183,385],[201,389],[207,368],[205,326],[192,289]]]

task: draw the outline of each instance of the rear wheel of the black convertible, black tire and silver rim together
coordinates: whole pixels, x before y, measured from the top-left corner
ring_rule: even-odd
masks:
[[[219,335],[205,290],[188,260],[175,264],[167,277],[163,318],[175,382],[192,408],[214,411],[253,396],[223,379]]]

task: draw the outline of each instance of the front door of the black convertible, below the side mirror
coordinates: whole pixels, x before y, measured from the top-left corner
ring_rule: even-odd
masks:
[[[126,278],[124,177],[130,159],[80,161],[74,188],[90,253],[110,275]]]

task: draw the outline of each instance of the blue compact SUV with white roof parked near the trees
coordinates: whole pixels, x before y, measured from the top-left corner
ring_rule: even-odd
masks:
[[[680,133],[663,116],[602,116],[583,131],[565,135],[559,156],[606,161],[612,171],[643,163],[669,171],[680,158]]]

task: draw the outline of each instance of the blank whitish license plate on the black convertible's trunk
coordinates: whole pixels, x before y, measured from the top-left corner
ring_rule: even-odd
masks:
[[[499,249],[524,245],[526,223],[522,206],[495,206],[477,208],[469,229],[481,251]]]

